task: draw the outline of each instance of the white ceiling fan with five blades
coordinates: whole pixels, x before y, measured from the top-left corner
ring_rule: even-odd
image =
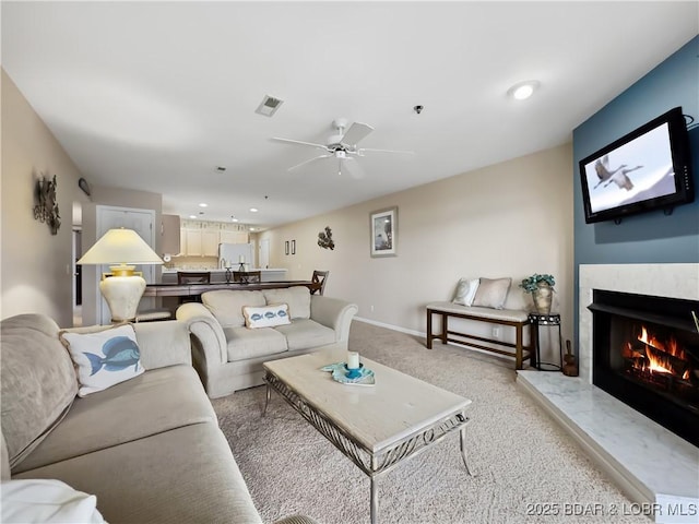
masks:
[[[286,142],[289,144],[298,144],[298,145],[307,145],[310,147],[316,147],[322,150],[324,153],[322,155],[315,156],[313,158],[309,158],[308,160],[304,160],[300,164],[292,166],[288,168],[289,171],[294,169],[298,169],[301,166],[310,164],[311,162],[320,160],[322,158],[336,158],[337,159],[337,175],[342,175],[342,166],[343,162],[354,162],[356,157],[364,156],[366,152],[371,153],[400,153],[400,154],[414,154],[413,151],[395,151],[395,150],[376,150],[370,147],[357,147],[359,141],[365,139],[374,128],[371,126],[367,126],[366,123],[354,122],[350,126],[350,129],[345,132],[347,128],[347,119],[346,118],[337,118],[332,122],[333,129],[335,130],[334,134],[331,134],[325,144],[316,144],[312,142],[303,142],[300,140],[292,140],[292,139],[281,139],[277,136],[273,136],[272,140],[276,140],[279,142]],[[345,167],[348,165],[345,164]],[[357,178],[360,174],[360,170],[352,169],[347,167],[347,170],[356,175]]]

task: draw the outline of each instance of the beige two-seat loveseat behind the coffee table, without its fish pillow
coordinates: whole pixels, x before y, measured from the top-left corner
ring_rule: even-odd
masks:
[[[192,334],[194,367],[210,397],[262,384],[262,362],[319,349],[346,349],[357,306],[310,295],[307,287],[262,291],[215,290],[177,309]],[[251,314],[273,305],[288,306],[289,322],[250,327]],[[246,318],[248,311],[248,318]]]

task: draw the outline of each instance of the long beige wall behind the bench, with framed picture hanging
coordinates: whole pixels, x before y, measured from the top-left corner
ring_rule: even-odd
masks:
[[[424,306],[450,299],[462,276],[511,276],[510,303],[529,305],[517,287],[532,273],[557,279],[555,310],[572,336],[572,148],[570,144],[470,171],[279,227],[270,265],[289,278],[330,270],[325,295],[359,306],[358,317],[425,332]],[[369,213],[398,206],[398,257],[369,255]],[[332,229],[335,249],[318,234]],[[284,241],[296,240],[296,255]]]

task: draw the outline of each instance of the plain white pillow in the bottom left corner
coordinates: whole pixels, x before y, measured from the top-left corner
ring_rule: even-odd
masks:
[[[106,522],[97,510],[97,497],[60,480],[8,480],[1,489],[2,522]]]

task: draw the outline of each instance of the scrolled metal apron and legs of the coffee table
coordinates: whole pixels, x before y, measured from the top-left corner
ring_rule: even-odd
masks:
[[[354,462],[359,469],[369,476],[371,480],[371,524],[378,522],[379,486],[377,477],[390,472],[401,461],[420,453],[453,431],[459,430],[460,432],[463,465],[466,468],[466,473],[473,476],[466,458],[466,425],[469,424],[469,417],[465,416],[464,410],[453,413],[416,433],[392,442],[387,448],[371,451],[335,426],[323,413],[307,404],[300,395],[269,371],[265,371],[264,382],[266,382],[266,398],[264,401],[263,416],[266,414],[272,390],[274,390],[323,437],[332,442],[335,448]]]

